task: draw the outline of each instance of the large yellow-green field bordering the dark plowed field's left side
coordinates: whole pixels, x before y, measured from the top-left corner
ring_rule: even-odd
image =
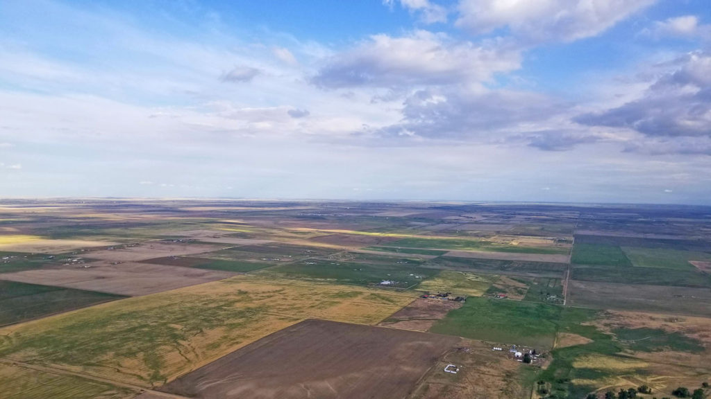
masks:
[[[0,356],[150,387],[303,319],[377,324],[414,297],[242,275],[0,329]]]

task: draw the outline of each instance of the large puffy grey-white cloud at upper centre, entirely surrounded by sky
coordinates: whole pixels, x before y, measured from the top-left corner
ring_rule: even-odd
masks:
[[[322,87],[398,87],[471,84],[520,67],[520,53],[504,40],[475,45],[444,33],[373,35],[334,55],[313,78]]]

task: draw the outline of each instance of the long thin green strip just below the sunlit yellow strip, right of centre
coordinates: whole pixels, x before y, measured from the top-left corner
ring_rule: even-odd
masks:
[[[424,237],[408,237],[390,243],[390,246],[405,246],[411,248],[441,248],[450,250],[476,250],[493,252],[515,252],[515,253],[549,253],[565,254],[567,248],[556,247],[530,247],[507,244],[496,244],[492,241],[472,240],[472,239],[428,239]]]

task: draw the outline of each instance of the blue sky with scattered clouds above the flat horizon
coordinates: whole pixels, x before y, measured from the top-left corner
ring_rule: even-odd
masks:
[[[0,197],[711,204],[711,7],[0,0]]]

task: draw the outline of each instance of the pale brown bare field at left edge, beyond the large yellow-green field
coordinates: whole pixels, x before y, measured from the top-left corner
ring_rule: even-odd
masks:
[[[3,280],[41,285],[78,288],[120,295],[148,295],[175,288],[223,280],[237,273],[180,266],[120,263],[108,261],[85,263],[81,266],[43,268],[4,273]]]

